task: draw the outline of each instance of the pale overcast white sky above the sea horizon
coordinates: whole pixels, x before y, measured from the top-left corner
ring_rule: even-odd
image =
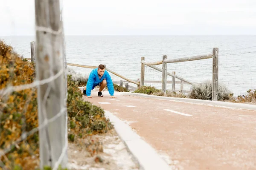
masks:
[[[256,0],[63,0],[66,35],[256,34]],[[35,34],[35,0],[0,0],[0,35]]]

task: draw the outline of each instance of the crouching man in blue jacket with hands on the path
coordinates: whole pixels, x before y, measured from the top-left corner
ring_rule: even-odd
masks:
[[[103,97],[102,90],[108,86],[108,92],[111,97],[114,97],[114,86],[108,71],[105,70],[104,65],[99,65],[98,68],[94,68],[89,75],[87,80],[87,85],[84,87],[83,94],[87,96],[86,98],[92,98],[91,90],[95,88],[95,86],[99,85],[98,96]]]

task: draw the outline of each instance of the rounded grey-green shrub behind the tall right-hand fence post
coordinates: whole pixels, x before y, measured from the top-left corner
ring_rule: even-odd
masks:
[[[218,101],[231,99],[232,92],[225,86],[219,83],[218,85]],[[194,84],[191,87],[189,98],[212,100],[212,81],[207,80],[203,83]]]

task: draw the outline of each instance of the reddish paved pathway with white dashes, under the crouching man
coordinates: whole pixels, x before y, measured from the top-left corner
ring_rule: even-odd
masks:
[[[178,169],[256,169],[256,111],[103,94],[84,99],[127,121]]]

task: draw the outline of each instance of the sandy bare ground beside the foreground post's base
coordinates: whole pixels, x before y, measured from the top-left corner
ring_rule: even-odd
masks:
[[[99,152],[91,155],[93,148]],[[139,170],[137,161],[114,129],[88,136],[79,144],[69,143],[68,157],[69,170]]]

